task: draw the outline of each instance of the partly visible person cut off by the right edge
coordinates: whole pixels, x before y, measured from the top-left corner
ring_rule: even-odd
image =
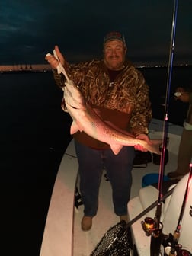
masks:
[[[181,135],[181,142],[178,150],[178,167],[175,171],[168,173],[171,179],[180,179],[190,170],[189,165],[192,158],[192,88],[187,91],[184,88],[177,88],[176,100],[188,102],[187,118],[184,120],[184,129]],[[177,95],[177,94],[176,94]]]

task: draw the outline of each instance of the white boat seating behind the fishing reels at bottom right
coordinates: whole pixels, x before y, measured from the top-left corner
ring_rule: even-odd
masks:
[[[178,218],[181,212],[181,206],[184,200],[184,194],[187,187],[188,174],[178,182],[178,184],[171,185],[174,187],[174,191],[171,196],[166,198],[165,203],[162,203],[162,216],[161,221],[163,223],[163,233],[173,234],[174,230],[178,226]],[[171,189],[170,187],[170,189]],[[158,199],[158,190],[149,185],[143,187],[139,191],[139,196],[134,197],[130,200],[127,205],[129,219],[133,219],[138,216],[143,210],[154,203]],[[145,232],[142,230],[141,221],[146,218],[146,216],[155,217],[156,207],[146,213],[145,216],[137,220],[131,226],[131,232],[133,236],[133,245],[136,246],[136,251],[139,256],[150,255],[150,242],[151,237],[146,236]],[[189,194],[187,196],[187,202],[184,208],[184,215],[181,222],[181,235],[179,238],[179,243],[187,248],[188,251],[192,251],[192,238],[190,236],[190,230],[192,227],[192,187],[190,187]]]

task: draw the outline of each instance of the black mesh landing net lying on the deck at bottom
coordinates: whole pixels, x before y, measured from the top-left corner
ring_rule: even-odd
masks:
[[[110,227],[90,256],[130,256],[130,229],[126,222]]]

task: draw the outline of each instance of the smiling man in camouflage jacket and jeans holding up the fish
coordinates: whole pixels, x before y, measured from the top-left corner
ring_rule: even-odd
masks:
[[[101,60],[93,59],[72,65],[64,59],[58,46],[55,46],[55,50],[69,78],[81,88],[86,101],[97,110],[102,120],[151,143],[147,135],[152,119],[149,87],[142,73],[126,59],[126,41],[120,32],[113,31],[104,37],[104,58]],[[56,72],[58,60],[53,55],[46,56],[46,60],[54,69],[56,84],[62,88],[66,80]],[[62,102],[62,106],[64,104]],[[82,230],[91,229],[92,219],[97,214],[103,167],[107,169],[107,178],[112,187],[114,213],[120,216],[120,220],[127,222],[134,147],[123,146],[119,154],[114,155],[109,145],[84,132],[78,131],[73,136],[84,203]],[[146,151],[142,146],[135,146],[135,149]]]

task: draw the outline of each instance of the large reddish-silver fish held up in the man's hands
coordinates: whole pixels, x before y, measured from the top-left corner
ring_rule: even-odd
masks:
[[[73,120],[70,129],[71,134],[78,132],[78,130],[84,131],[88,136],[109,144],[115,155],[120,152],[123,146],[136,146],[138,144],[150,152],[161,155],[159,151],[161,140],[152,139],[152,144],[149,144],[145,140],[136,139],[131,133],[104,122],[91,105],[85,101],[82,92],[72,81],[66,82],[63,91],[66,109]]]

